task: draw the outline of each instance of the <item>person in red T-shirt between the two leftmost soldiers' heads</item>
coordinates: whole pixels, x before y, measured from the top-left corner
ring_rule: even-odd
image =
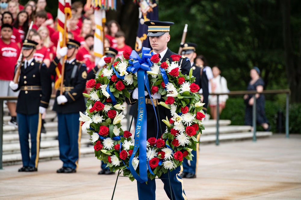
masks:
[[[50,49],[42,46],[42,37],[39,34],[33,34],[31,40],[38,43],[36,46],[36,52],[33,57],[36,61],[41,61],[46,64],[47,67],[50,65]]]

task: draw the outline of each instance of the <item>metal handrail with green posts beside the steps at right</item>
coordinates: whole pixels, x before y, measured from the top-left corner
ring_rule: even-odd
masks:
[[[286,94],[286,106],[285,106],[285,137],[289,138],[289,97],[290,90],[264,90],[262,92],[257,92],[256,90],[247,90],[247,91],[230,91],[228,93],[210,93],[209,95],[217,95],[217,102],[219,102],[219,95],[244,95],[244,94],[253,94],[254,103],[253,103],[253,142],[256,142],[256,97],[255,94]],[[219,103],[216,105],[216,145],[219,145]]]

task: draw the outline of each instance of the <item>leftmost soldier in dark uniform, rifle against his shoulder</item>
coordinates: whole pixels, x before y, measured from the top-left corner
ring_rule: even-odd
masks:
[[[37,43],[23,40],[23,57],[20,81],[10,82],[14,91],[20,90],[17,101],[17,122],[23,167],[19,172],[38,171],[42,118],[51,96],[51,78],[43,62],[35,61]],[[31,156],[29,155],[29,133]]]

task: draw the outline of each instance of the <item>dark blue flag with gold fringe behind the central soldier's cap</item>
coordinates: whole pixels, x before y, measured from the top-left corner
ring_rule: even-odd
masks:
[[[159,14],[156,0],[140,0],[139,6],[139,22],[135,51],[141,53],[142,46],[151,48],[151,44],[147,38],[148,27],[144,24],[144,22],[149,20],[159,20]]]

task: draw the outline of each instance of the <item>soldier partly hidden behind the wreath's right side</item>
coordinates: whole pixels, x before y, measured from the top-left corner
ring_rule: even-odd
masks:
[[[203,89],[203,103],[205,105],[204,108],[207,108],[208,105],[208,79],[206,76],[206,71],[203,71],[203,66],[199,66],[194,63],[194,59],[197,57],[195,52],[195,48],[197,44],[195,43],[185,43],[181,45],[182,47],[182,55],[187,56],[190,59],[191,67],[192,67],[192,75],[195,77],[194,82],[199,85],[200,88]],[[204,110],[206,112],[206,110]],[[200,139],[200,134],[197,135],[197,140]],[[197,174],[197,163],[198,163],[198,155],[199,155],[199,144],[197,144],[196,151],[192,151],[191,154],[194,156],[192,160],[187,160],[186,158],[183,160],[183,172],[180,175],[181,178],[196,178]]]

